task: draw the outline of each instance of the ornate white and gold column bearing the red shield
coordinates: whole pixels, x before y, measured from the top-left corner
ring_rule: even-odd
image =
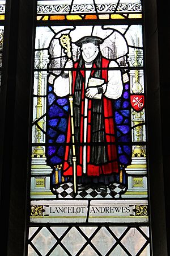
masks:
[[[134,67],[139,67],[142,62],[138,49],[134,50],[134,56],[130,56]],[[145,142],[145,109],[143,96],[143,70],[130,71],[131,86],[131,121],[133,122],[133,154],[132,161],[125,168],[128,175],[128,189],[122,197],[147,197],[147,166]]]

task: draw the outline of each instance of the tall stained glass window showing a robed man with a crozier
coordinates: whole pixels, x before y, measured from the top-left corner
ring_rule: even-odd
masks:
[[[28,255],[151,255],[143,9],[37,1]]]

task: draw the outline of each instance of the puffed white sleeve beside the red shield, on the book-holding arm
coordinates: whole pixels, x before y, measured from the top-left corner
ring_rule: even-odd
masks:
[[[117,68],[118,64],[115,61],[111,61],[109,68],[115,67]],[[122,90],[123,84],[120,70],[109,70],[107,90],[104,95],[108,98],[117,99],[121,96]]]

